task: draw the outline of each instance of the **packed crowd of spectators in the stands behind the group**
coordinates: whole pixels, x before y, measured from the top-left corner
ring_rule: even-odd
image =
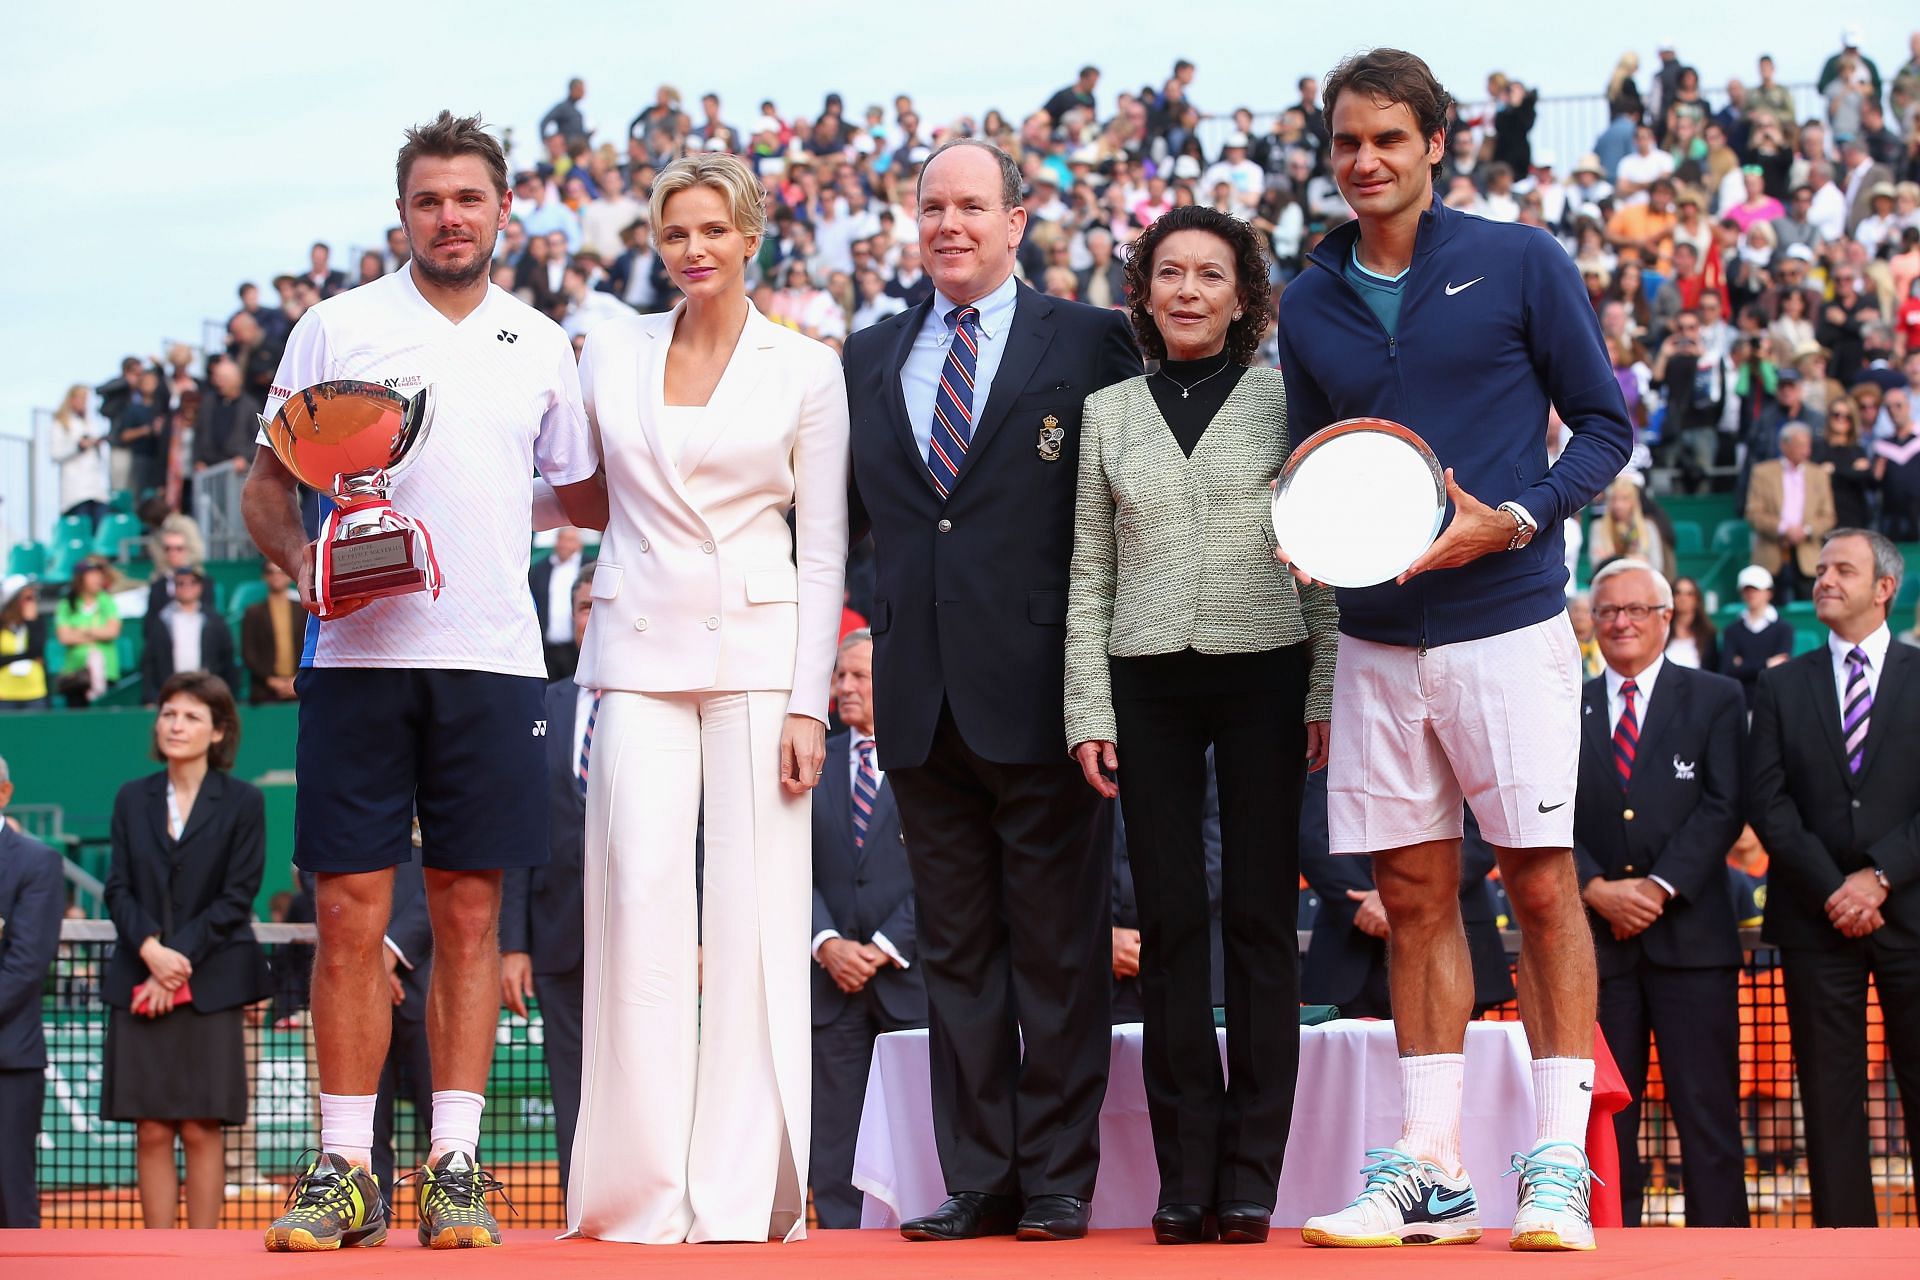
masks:
[[[1628,608],[1576,591],[1588,570],[1622,558],[1651,564],[1655,595],[1670,601],[1659,606],[1670,614],[1665,660],[1736,677],[1753,706],[1759,672],[1793,652],[1784,610],[1811,593],[1822,537],[1855,528],[1895,543],[1920,539],[1920,436],[1910,399],[1920,388],[1920,35],[1908,50],[1885,54],[1876,61],[1855,33],[1843,33],[1812,86],[1818,109],[1811,113],[1797,109],[1807,96],[1778,83],[1766,56],[1753,81],[1709,94],[1672,48],[1661,48],[1645,71],[1626,54],[1597,84],[1609,123],[1582,155],[1532,144],[1540,88],[1509,75],[1490,75],[1484,98],[1450,107],[1444,201],[1540,226],[1565,246],[1586,280],[1636,428],[1632,466],[1590,522],[1569,522],[1569,612],[1588,677],[1607,672],[1607,628]],[[1882,65],[1893,71],[1884,75]],[[931,294],[914,182],[935,146],[972,134],[1020,161],[1027,209],[1020,274],[1050,296],[1123,309],[1127,246],[1167,209],[1194,203],[1258,228],[1273,284],[1284,290],[1327,230],[1350,217],[1331,177],[1319,86],[1300,79],[1298,102],[1256,127],[1261,117],[1248,107],[1202,107],[1196,83],[1198,67],[1181,59],[1160,83],[1102,96],[1102,73],[1087,65],[1031,111],[989,109],[948,123],[924,121],[908,94],[864,109],[828,94],[810,115],[791,115],[774,102],[741,111],[716,94],[695,104],[662,84],[624,130],[609,130],[589,121],[588,86],[576,79],[541,121],[538,159],[513,177],[513,221],[493,280],[561,322],[576,351],[611,317],[672,307],[674,290],[651,244],[647,192],[676,157],[732,152],[751,159],[768,196],[755,305],[837,349],[849,334]],[[165,357],[129,357],[111,380],[69,388],[46,441],[60,476],[60,535],[38,557],[15,549],[0,587],[0,708],[56,700],[79,708],[131,676],[140,677],[140,700],[157,704],[179,687],[180,672],[194,670],[221,676],[253,702],[296,697],[303,614],[290,583],[269,566],[248,606],[225,616],[204,564],[194,489],[209,474],[248,468],[255,415],[292,324],[317,301],[405,261],[397,226],[351,269],[315,242],[300,271],[265,288],[238,286],[223,351],[200,361],[179,345]],[[1275,363],[1271,332],[1256,363]],[[1720,629],[1709,601],[1716,591],[1682,572],[1690,539],[1663,509],[1663,499],[1695,493],[1732,495],[1730,509],[1751,539],[1740,547],[1747,555],[1738,580],[1726,583],[1743,612]],[[837,725],[866,735],[870,658],[858,628],[870,612],[872,578],[860,572],[868,555],[856,549],[851,560],[851,643],[835,672],[843,712],[854,708]],[[152,560],[150,572],[140,558]],[[551,557],[536,557],[532,593],[555,679],[568,677],[578,656],[589,558],[591,547],[572,532],[561,533]],[[142,574],[150,587],[129,593],[127,580]],[[129,608],[131,599],[144,608]],[[1897,639],[1920,645],[1920,628],[1901,622],[1893,624]],[[138,645],[123,643],[127,626],[140,629]],[[8,793],[0,766],[0,806]],[[1707,875],[1724,885],[1715,892],[1728,902],[1715,919],[1755,925],[1766,902],[1768,854],[1751,827],[1736,823],[1730,837],[1738,841],[1726,841],[1720,869]],[[1123,833],[1116,856],[1123,865]],[[1638,919],[1638,908],[1613,889],[1630,873],[1632,865],[1596,865],[1588,881],[1582,871],[1597,931],[1634,933],[1626,921]],[[1379,938],[1377,894],[1369,902],[1369,889],[1332,881],[1313,889],[1319,894],[1309,902],[1352,898],[1357,908],[1342,927]],[[1484,877],[1480,890],[1492,892]],[[518,892],[524,908],[526,894],[551,890]],[[1121,984],[1137,981],[1140,965],[1129,910],[1116,892],[1114,977]],[[1302,927],[1313,927],[1311,910]],[[10,936],[15,929],[10,923]],[[509,921],[503,936],[513,929]],[[540,946],[528,929],[532,917],[522,919],[518,940],[509,938],[524,963],[509,967],[505,1000],[522,1009],[540,979],[553,979],[528,958]],[[883,967],[872,946],[851,938],[816,938],[816,946],[843,992],[860,990]],[[1309,998],[1313,983],[1309,963]],[[1357,1002],[1361,992],[1323,990],[1321,998]],[[1920,1017],[1920,1004],[1893,1007],[1885,988],[1880,1004],[1889,1023]],[[1640,1038],[1636,1052],[1615,1044],[1615,1054],[1634,1057],[1644,1082],[1644,1027]],[[1749,1034],[1740,1050],[1743,1096],[1789,1107],[1755,1069],[1755,1052],[1774,1054],[1770,1042],[1753,1048],[1763,1038]],[[1738,1071],[1734,1061],[1722,1067]],[[564,1075],[564,1067],[555,1071],[555,1079]],[[1791,1151],[1776,1151],[1755,1130],[1757,1111],[1747,1115],[1745,1148],[1763,1161],[1789,1161]],[[845,1128],[845,1115],[835,1123]],[[0,1132],[8,1144],[17,1138]],[[816,1142],[845,1138],[816,1134]],[[1622,1140],[1632,1142],[1632,1132]],[[0,1163],[12,1161],[0,1153]],[[816,1157],[816,1174],[828,1165]],[[829,1201],[837,1215],[856,1203],[847,1194],[816,1184],[822,1222]],[[19,1224],[8,1213],[0,1226]],[[1636,1221],[1638,1207],[1630,1215]]]

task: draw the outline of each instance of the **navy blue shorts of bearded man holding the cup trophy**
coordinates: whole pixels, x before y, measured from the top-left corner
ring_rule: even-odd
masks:
[[[547,862],[545,687],[493,672],[313,666],[300,672],[294,865],[442,871]]]

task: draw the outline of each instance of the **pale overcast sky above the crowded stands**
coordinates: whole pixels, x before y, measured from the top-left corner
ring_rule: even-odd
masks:
[[[0,155],[15,192],[0,436],[25,434],[35,407],[106,380],[123,355],[198,344],[242,278],[301,267],[313,240],[351,274],[349,248],[396,223],[394,152],[409,123],[482,111],[526,155],[570,75],[588,81],[599,136],[618,140],[662,81],[689,104],[718,92],[733,125],[760,98],[812,115],[828,90],[849,115],[910,92],[933,125],[1031,111],[1085,61],[1104,73],[1104,113],[1121,88],[1188,58],[1194,102],[1225,113],[1286,106],[1300,75],[1369,44],[1423,54],[1463,100],[1494,69],[1548,96],[1594,94],[1622,50],[1651,67],[1667,38],[1707,84],[1751,77],[1763,52],[1782,81],[1812,81],[1841,25],[1891,77],[1920,15],[1897,0],[21,0],[0,42]]]

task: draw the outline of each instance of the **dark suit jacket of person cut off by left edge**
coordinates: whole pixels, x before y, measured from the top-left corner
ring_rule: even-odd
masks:
[[[0,1071],[46,1067],[40,992],[60,952],[60,854],[0,818]]]

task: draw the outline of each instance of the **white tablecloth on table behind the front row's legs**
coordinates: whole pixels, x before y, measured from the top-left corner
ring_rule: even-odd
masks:
[[[1221,1032],[1225,1054],[1225,1032]],[[1515,1151],[1534,1146],[1534,1086],[1519,1023],[1467,1027],[1463,1155],[1480,1196],[1480,1224],[1513,1224],[1513,1184],[1501,1182]],[[1400,1138],[1400,1052],[1394,1025],[1340,1019],[1300,1029],[1300,1084],[1286,1144],[1277,1226],[1300,1226],[1359,1192],[1361,1153]],[[927,1032],[897,1031],[874,1042],[852,1184],[866,1192],[862,1226],[899,1226],[947,1197],[933,1148]],[[966,1190],[966,1188],[956,1188]],[[1154,1138],[1140,1080],[1140,1025],[1114,1027],[1112,1073],[1100,1109],[1100,1180],[1094,1226],[1146,1226],[1160,1199]]]

